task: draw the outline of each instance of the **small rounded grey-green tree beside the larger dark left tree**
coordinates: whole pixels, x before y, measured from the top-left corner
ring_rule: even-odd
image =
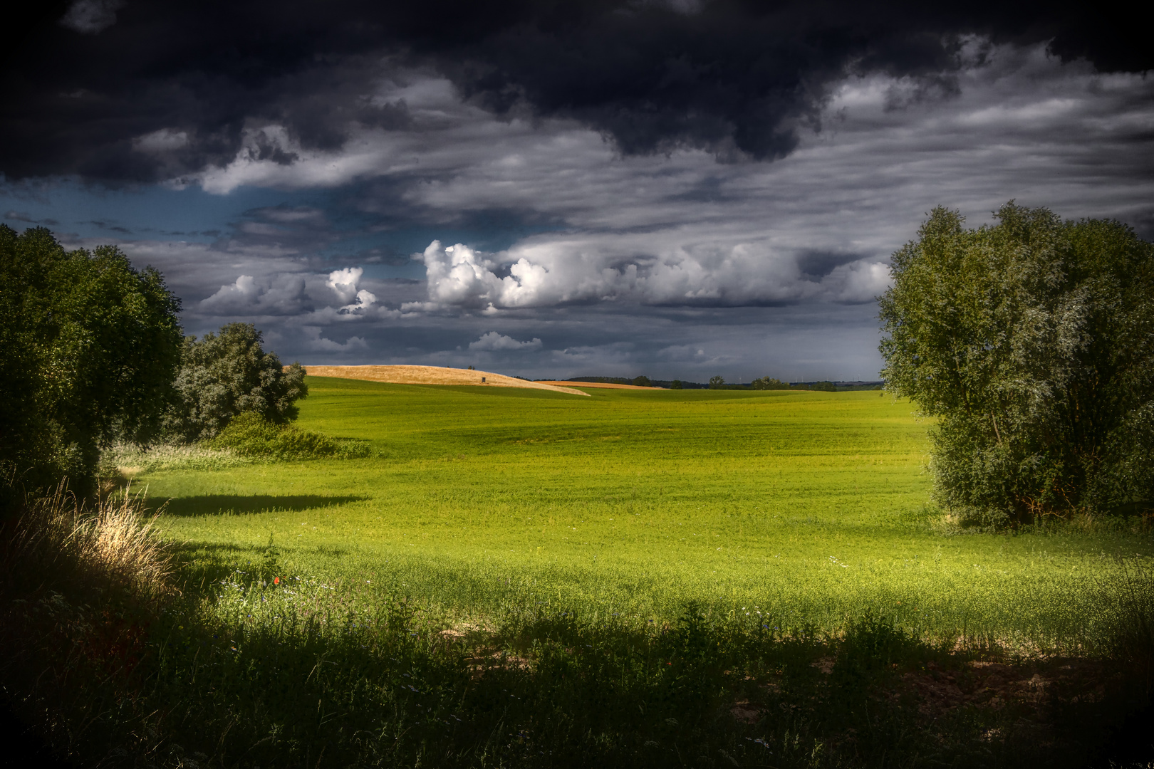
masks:
[[[308,394],[305,369],[293,363],[285,370],[276,353],[264,352],[262,341],[250,323],[230,323],[200,340],[186,338],[168,430],[185,440],[203,440],[216,437],[242,412],[255,412],[273,424],[295,420],[294,404]]]

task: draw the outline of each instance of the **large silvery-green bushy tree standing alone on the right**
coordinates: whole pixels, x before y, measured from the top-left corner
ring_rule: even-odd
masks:
[[[935,209],[881,297],[886,389],[931,430],[935,495],[962,518],[1154,500],[1154,247],[1129,227],[1007,203]]]

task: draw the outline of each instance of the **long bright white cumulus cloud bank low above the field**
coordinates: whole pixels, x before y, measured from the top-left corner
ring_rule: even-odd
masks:
[[[796,249],[777,248],[764,236],[684,243],[651,234],[541,235],[497,254],[433,241],[414,258],[425,263],[428,301],[406,310],[853,303],[871,301],[890,280],[885,262],[853,257],[815,279],[799,266]]]

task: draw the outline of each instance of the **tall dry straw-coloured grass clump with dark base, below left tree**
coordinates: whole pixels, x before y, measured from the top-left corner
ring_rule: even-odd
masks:
[[[0,528],[0,680],[66,756],[123,749],[148,731],[149,629],[178,595],[153,520],[142,495],[90,505],[61,483]]]

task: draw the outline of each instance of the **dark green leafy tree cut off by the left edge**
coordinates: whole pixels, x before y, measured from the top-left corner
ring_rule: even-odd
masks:
[[[180,361],[180,300],[112,246],[66,251],[43,227],[0,225],[0,470],[6,497],[68,476],[100,445],[145,442]]]

